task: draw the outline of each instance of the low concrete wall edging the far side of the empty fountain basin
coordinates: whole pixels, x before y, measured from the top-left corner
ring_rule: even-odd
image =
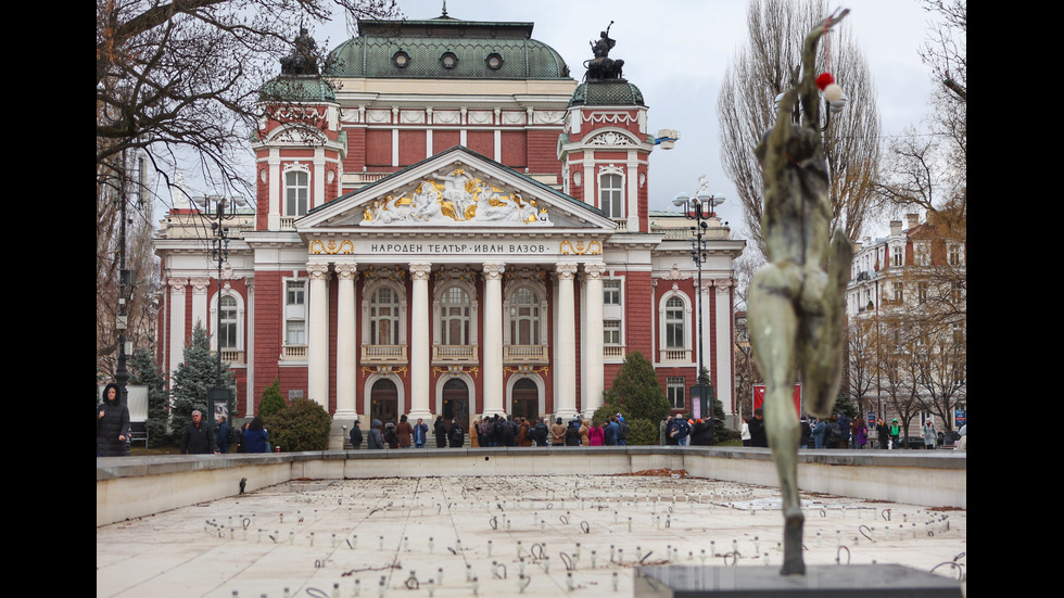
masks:
[[[799,450],[803,492],[966,508],[963,450]],[[215,500],[291,480],[454,475],[610,475],[649,469],[777,485],[768,448],[610,446],[321,450],[97,458],[97,525]]]

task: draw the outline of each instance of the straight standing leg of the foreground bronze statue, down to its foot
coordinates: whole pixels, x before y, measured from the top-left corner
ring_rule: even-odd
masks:
[[[767,266],[751,281],[748,321],[753,356],[765,381],[764,425],[780,478],[784,516],[784,575],[803,574],[801,534],[805,517],[798,496],[798,440],[794,407],[795,340],[798,318],[787,296],[787,268]]]

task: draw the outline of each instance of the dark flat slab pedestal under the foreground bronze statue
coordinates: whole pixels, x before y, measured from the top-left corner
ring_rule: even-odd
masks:
[[[778,565],[639,567],[636,598],[961,598],[961,582],[900,564],[806,567],[805,575],[781,575]]]

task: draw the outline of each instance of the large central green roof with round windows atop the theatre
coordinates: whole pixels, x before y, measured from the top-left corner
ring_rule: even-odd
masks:
[[[532,23],[359,21],[359,36],[329,53],[327,77],[569,79],[554,49],[531,38]]]

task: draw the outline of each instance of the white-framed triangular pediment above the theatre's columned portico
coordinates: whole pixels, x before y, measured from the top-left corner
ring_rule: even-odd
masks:
[[[460,145],[338,198],[295,221],[300,233],[409,228],[609,233],[616,226],[599,209]]]

